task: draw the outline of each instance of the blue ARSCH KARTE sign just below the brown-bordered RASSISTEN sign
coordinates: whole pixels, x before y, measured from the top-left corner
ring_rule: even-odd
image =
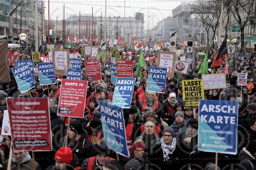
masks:
[[[165,93],[167,68],[149,67],[148,92]]]

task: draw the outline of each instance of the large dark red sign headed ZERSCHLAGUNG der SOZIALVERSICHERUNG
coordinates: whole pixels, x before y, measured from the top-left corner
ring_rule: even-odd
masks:
[[[6,102],[14,149],[53,150],[48,98],[7,98]]]

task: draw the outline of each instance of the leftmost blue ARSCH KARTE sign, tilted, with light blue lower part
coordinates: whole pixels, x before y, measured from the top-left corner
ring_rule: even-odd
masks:
[[[27,63],[13,67],[12,71],[21,93],[27,92],[34,87],[34,79]]]

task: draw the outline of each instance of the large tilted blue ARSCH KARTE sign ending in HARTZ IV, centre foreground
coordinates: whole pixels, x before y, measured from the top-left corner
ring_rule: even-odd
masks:
[[[126,143],[126,130],[121,107],[98,101],[104,139],[108,148],[124,157],[130,157]]]

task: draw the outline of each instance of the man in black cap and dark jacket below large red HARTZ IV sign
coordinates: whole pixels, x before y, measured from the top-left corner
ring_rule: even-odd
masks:
[[[77,155],[80,163],[95,155],[94,147],[87,138],[87,132],[82,128],[80,121],[71,121],[67,133],[68,135],[59,141],[59,146],[63,147],[68,140],[67,147],[71,148],[72,152]]]

